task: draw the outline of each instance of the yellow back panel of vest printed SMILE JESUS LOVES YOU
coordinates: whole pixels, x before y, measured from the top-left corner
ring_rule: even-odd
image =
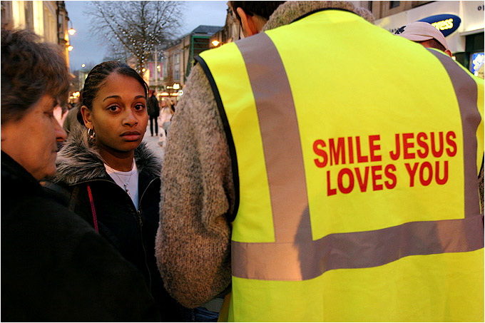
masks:
[[[335,13],[337,16],[339,13]],[[322,13],[321,16],[327,16]],[[328,15],[333,16],[333,15]],[[337,17],[335,17],[336,19]],[[302,24],[297,29],[300,35],[312,35],[318,20],[317,14],[308,17],[310,22]],[[298,123],[302,138],[302,149],[305,158],[305,171],[307,172],[307,189],[310,202],[310,214],[317,215],[312,218],[312,232],[314,240],[331,233],[357,232],[367,230],[379,230],[384,227],[400,225],[404,222],[422,220],[445,220],[463,217],[464,197],[455,194],[463,191],[463,151],[459,150],[453,158],[441,156],[434,158],[429,153],[427,158],[404,159],[403,156],[394,161],[389,157],[389,151],[394,149],[395,134],[412,133],[416,141],[419,132],[439,133],[453,131],[456,134],[456,143],[462,142],[461,121],[459,106],[453,91],[449,91],[449,81],[446,70],[441,67],[439,61],[427,53],[426,48],[419,44],[409,46],[409,41],[395,37],[385,30],[374,30],[374,34],[382,34],[382,37],[370,38],[367,28],[354,28],[352,33],[335,24],[335,19],[325,19],[325,35],[332,35],[332,48],[348,48],[348,43],[355,44],[359,48],[354,51],[335,51],[335,59],[342,63],[320,63],[319,73],[302,73],[305,71],[307,62],[312,61],[314,53],[325,50],[322,43],[325,41],[308,42],[309,48],[302,51],[298,56],[288,53],[285,55],[280,50],[282,61],[285,65],[287,76],[290,80],[295,106],[297,107]],[[347,19],[342,19],[342,24],[349,24]],[[364,24],[364,23],[362,23]],[[289,26],[268,31],[277,48],[292,48],[293,37],[288,36],[292,30]],[[295,34],[296,36],[296,34]],[[394,46],[382,46],[382,43],[393,43]],[[372,48],[379,48],[379,66],[385,66],[385,70],[376,68],[373,74],[353,73],[358,66],[368,66],[369,62],[375,61],[376,52]],[[426,73],[414,66],[414,60],[402,60],[402,57],[415,57],[421,54],[422,62],[429,66]],[[332,61],[332,60],[330,60]],[[399,61],[399,64],[396,63]],[[344,66],[344,62],[352,62]],[[407,74],[402,76],[403,71]],[[322,75],[332,76],[329,80],[322,80]],[[397,77],[394,77],[397,76]],[[399,91],[399,88],[408,87],[406,83],[426,84],[429,80],[443,80],[444,91],[429,91],[409,93]],[[325,88],[325,91],[321,89]],[[379,96],[371,96],[379,88]],[[321,102],[319,106],[322,113],[307,113],[305,107],[315,106],[315,102]],[[453,106],[449,102],[455,102]],[[344,109],[342,109],[342,106]],[[434,107],[424,109],[423,107]],[[301,107],[301,108],[300,108]],[[438,110],[439,107],[439,110]],[[439,111],[439,114],[436,113]],[[332,122],[328,123],[329,116]],[[389,118],[392,116],[392,119]],[[398,121],[398,122],[397,122]],[[322,127],[325,125],[325,127]],[[446,126],[444,126],[446,125]],[[369,135],[380,135],[377,141],[380,145],[379,155],[382,162],[369,163],[346,163],[333,165],[325,168],[317,168],[314,159],[318,156],[313,151],[313,143],[317,139],[325,140],[339,137],[354,138],[359,136],[362,153],[369,155]],[[429,141],[429,140],[428,140]],[[416,146],[417,144],[414,143]],[[353,145],[354,150],[356,144]],[[413,149],[415,151],[416,148]],[[328,153],[327,149],[327,153]],[[354,153],[354,160],[357,159]],[[348,160],[348,156],[347,156]],[[422,163],[428,161],[435,165],[440,162],[441,171],[444,168],[444,160],[449,160],[449,181],[446,185],[437,185],[436,181],[428,186],[416,185],[409,190],[410,176],[405,163]],[[377,185],[384,185],[387,178],[384,176],[386,165],[394,165],[397,176],[397,186],[387,190],[372,190],[371,169],[369,169],[369,183],[367,192],[362,193],[357,185],[356,170],[363,174],[365,167],[373,165],[382,166],[377,174],[382,175],[382,180],[377,180]],[[327,183],[327,172],[330,172],[331,188],[337,187],[337,175],[342,168],[349,168],[354,173],[354,189],[351,193],[343,194],[337,191],[332,198],[317,198],[322,194],[322,186]],[[433,169],[435,170],[435,169]],[[419,171],[417,172],[419,174]],[[345,176],[344,180],[348,180]],[[416,180],[415,180],[416,182]],[[347,183],[346,183],[347,184]],[[345,186],[348,186],[345,185]],[[357,186],[357,187],[355,187]],[[441,194],[436,194],[440,192]],[[423,200],[422,197],[427,199]],[[315,197],[315,198],[312,198]],[[389,203],[392,200],[422,201],[422,203],[409,203],[409,207],[403,208],[402,203]],[[424,204],[424,205],[423,205]],[[341,205],[346,205],[342,207]],[[375,207],[386,205],[386,207]],[[432,207],[436,212],[422,212],[423,207]],[[413,208],[415,210],[413,210]],[[332,210],[332,217],[322,217],[320,210]],[[455,212],[450,212],[454,210]],[[392,213],[392,217],[389,217]],[[372,214],[372,217],[355,215]]]

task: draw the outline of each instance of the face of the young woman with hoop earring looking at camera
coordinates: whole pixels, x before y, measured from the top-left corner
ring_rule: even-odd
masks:
[[[146,132],[145,91],[135,78],[116,72],[99,88],[92,110],[82,106],[81,113],[96,132],[96,146],[111,155],[132,152]]]

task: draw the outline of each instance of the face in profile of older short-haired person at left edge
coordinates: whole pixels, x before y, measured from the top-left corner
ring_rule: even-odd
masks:
[[[56,173],[57,142],[66,132],[53,116],[58,101],[45,95],[19,121],[1,125],[1,150],[22,165],[36,180]]]

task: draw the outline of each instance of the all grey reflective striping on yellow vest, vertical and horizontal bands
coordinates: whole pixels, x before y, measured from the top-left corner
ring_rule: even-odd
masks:
[[[257,34],[236,44],[244,58],[255,96],[275,242],[233,241],[233,276],[256,280],[310,280],[328,270],[376,267],[409,255],[467,252],[484,246],[481,216],[472,205],[479,199],[473,195],[466,198],[466,203],[470,204],[466,204],[465,219],[409,222],[382,230],[332,234],[313,241],[300,131],[285,68],[277,48],[266,34]],[[455,71],[450,75],[455,73],[460,74],[454,81],[456,89],[464,77]],[[462,96],[459,91],[456,95]],[[470,112],[473,107],[462,106],[469,104],[466,99],[459,98],[458,102],[462,117],[474,115]],[[468,147],[465,153],[474,150],[475,132],[476,128],[464,131]],[[287,138],[284,150],[280,149],[280,138],[283,137]],[[465,160],[465,175],[470,176],[468,168],[475,172],[471,179],[476,178],[474,156],[476,153]],[[285,185],[287,181],[292,185]],[[474,185],[474,193],[477,192],[476,182],[470,180],[467,183],[466,195],[473,191],[469,185]]]

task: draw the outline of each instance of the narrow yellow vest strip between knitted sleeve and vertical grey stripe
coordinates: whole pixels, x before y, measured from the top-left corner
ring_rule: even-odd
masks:
[[[252,172],[240,177],[239,212],[246,214],[247,217],[236,217],[232,240],[243,241],[243,237],[248,239],[247,234],[250,232],[251,242],[274,242],[270,190],[267,178],[260,176],[266,174],[261,135],[257,131],[245,130],[258,129],[259,123],[244,61],[235,43],[228,43],[213,51],[205,51],[200,56],[206,62],[213,59],[218,61],[218,64],[210,66],[210,70],[215,76],[218,88],[225,89],[221,93],[223,106],[230,109],[236,117],[229,120],[233,139],[235,143],[245,140],[251,146],[251,153],[245,153],[236,145],[240,168],[250,165]],[[230,73],[225,73],[228,71],[226,68],[230,68]],[[240,88],[243,90],[240,91]]]

